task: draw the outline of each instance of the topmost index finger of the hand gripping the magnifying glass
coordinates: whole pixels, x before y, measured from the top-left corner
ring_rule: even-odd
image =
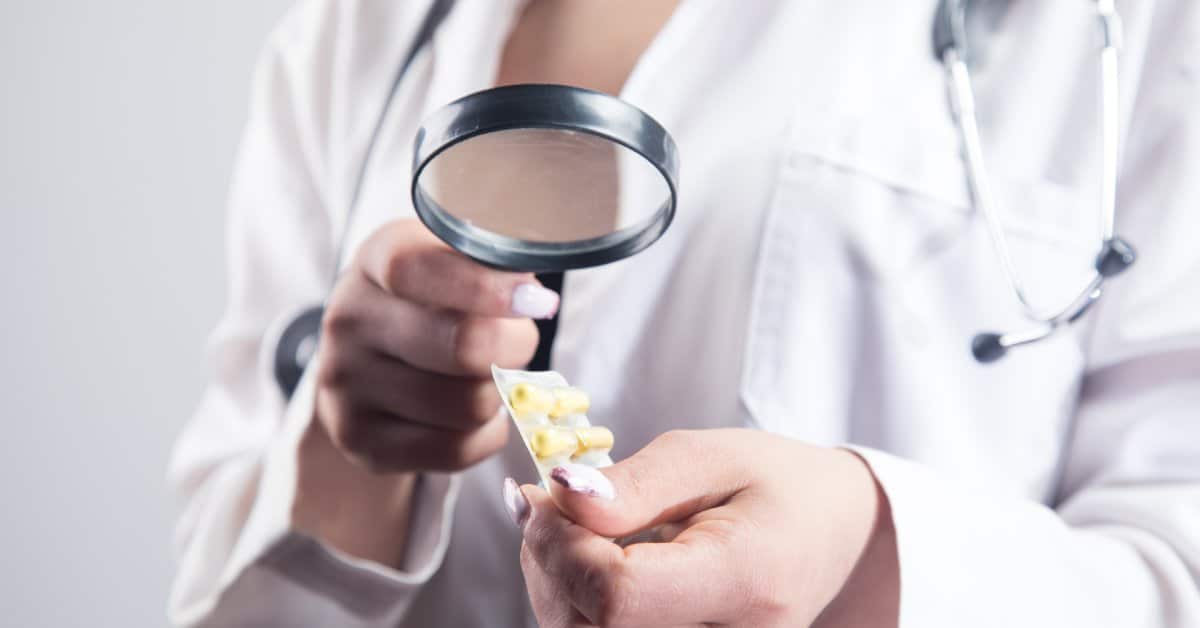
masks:
[[[533,275],[473,262],[414,220],[379,228],[362,245],[359,265],[385,292],[433,307],[514,318],[550,318],[558,311],[558,294]]]

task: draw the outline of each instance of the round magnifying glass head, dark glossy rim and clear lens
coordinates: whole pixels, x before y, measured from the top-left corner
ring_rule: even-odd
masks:
[[[421,126],[413,205],[463,255],[553,273],[624,259],[676,213],[678,150],[648,114],[568,85],[464,96]]]

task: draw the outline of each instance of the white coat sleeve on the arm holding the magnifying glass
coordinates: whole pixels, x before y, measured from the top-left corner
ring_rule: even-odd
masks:
[[[210,346],[215,376],[169,469],[184,507],[168,609],[175,624],[395,624],[445,552],[457,482],[450,476],[419,480],[402,569],[340,554],[293,525],[313,367],[286,402],[271,375],[270,336],[328,291],[338,228],[328,208],[340,207],[329,175],[331,138],[340,136],[330,101],[341,79],[329,59],[344,49],[336,32],[372,18],[364,13],[355,2],[302,2],[258,64],[232,186],[228,303]]]

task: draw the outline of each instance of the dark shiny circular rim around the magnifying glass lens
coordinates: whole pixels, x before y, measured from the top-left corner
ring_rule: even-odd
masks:
[[[577,131],[620,144],[662,175],[667,199],[647,219],[598,238],[530,241],[500,235],[455,217],[419,185],[425,168],[450,146],[514,128]],[[425,120],[413,145],[412,198],[421,222],[463,255],[494,268],[547,273],[607,264],[654,244],[674,220],[678,177],[674,139],[646,112],[600,91],[571,85],[521,84],[463,96]]]

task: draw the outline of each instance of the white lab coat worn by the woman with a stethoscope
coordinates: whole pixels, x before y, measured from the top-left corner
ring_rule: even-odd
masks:
[[[458,2],[349,226],[428,2],[308,0],[271,36],[214,379],[170,469],[174,622],[533,626],[500,501],[504,476],[532,478],[520,449],[425,477],[403,570],[289,531],[312,382],[284,402],[264,340],[325,297],[344,229],[356,244],[412,215],[419,120],[491,85],[518,4]],[[592,393],[618,459],[674,427],[856,447],[894,510],[904,627],[1200,626],[1200,2],[1120,2],[1117,231],[1140,261],[1086,322],[990,366],[971,336],[1026,323],[970,209],[935,5],[683,1],[622,95],[678,140],[677,222],[568,274],[553,366]],[[977,76],[983,136],[1018,269],[1050,306],[1098,246],[1098,26],[1090,2],[1002,18]]]

